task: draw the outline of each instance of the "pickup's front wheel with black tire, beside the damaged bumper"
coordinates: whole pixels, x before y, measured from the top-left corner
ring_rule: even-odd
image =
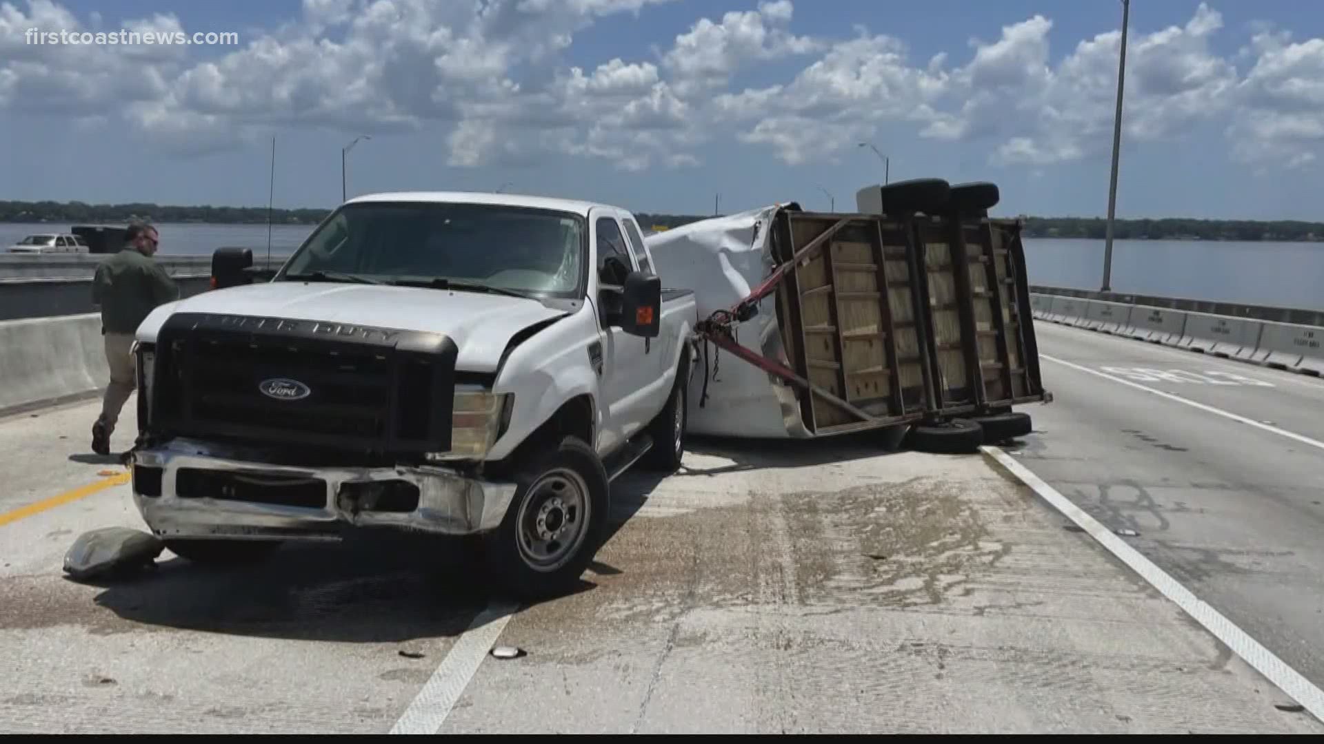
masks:
[[[493,579],[519,600],[568,594],[606,532],[602,461],[579,437],[552,442],[518,467],[515,498],[500,527],[483,540]]]

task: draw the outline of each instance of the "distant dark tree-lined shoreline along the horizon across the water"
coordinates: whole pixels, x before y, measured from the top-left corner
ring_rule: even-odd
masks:
[[[273,209],[274,225],[315,225],[330,209]],[[636,212],[641,226],[678,228],[706,220],[711,214],[658,214]],[[151,222],[196,222],[211,225],[265,225],[265,207],[175,207],[148,203],[85,204],[81,201],[0,201],[0,222],[54,222],[60,225]],[[1103,240],[1103,217],[1025,217],[1025,237],[1061,240]],[[1324,222],[1300,220],[1162,220],[1113,221],[1115,240],[1201,240],[1241,242],[1320,242]]]

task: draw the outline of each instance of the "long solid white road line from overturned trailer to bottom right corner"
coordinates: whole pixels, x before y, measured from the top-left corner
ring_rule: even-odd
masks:
[[[1019,478],[1039,498],[1049,502],[1067,519],[1075,522],[1076,526],[1102,543],[1108,552],[1131,567],[1132,571],[1139,573],[1155,589],[1158,589],[1165,597],[1176,602],[1196,622],[1205,626],[1206,630],[1231,649],[1234,654],[1263,674],[1266,679],[1276,684],[1284,694],[1304,706],[1311,715],[1324,720],[1324,691],[1316,687],[1309,679],[1305,679],[1300,673],[1287,666],[1283,659],[1278,658],[1272,651],[1233,624],[1233,621],[1223,617],[1218,610],[1182,586],[1164,569],[1140,555],[1140,552],[1128,545],[1121,537],[1113,535],[1112,531],[1086,514],[1084,510],[1071,503],[1070,499],[1059,494],[1053,486],[1045,483],[1043,479],[1017,462],[1016,458],[1006,454],[1001,447],[985,445],[980,449],[1012,471],[1013,475]]]

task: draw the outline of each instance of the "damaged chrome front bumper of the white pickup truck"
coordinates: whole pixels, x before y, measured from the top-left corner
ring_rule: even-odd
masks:
[[[347,527],[471,535],[499,527],[516,490],[437,466],[266,459],[189,440],[139,449],[134,503],[163,539],[336,539]]]

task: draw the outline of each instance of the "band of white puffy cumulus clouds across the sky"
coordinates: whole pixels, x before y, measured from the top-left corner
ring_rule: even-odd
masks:
[[[119,118],[185,154],[273,127],[429,131],[455,167],[545,154],[628,171],[696,167],[698,148],[714,142],[796,165],[841,156],[884,124],[1002,167],[1050,168],[1111,144],[1120,30],[1062,38],[1051,8],[916,60],[903,40],[861,25],[838,37],[797,32],[806,8],[829,5],[700,7],[653,52],[567,62],[594,24],[646,24],[650,7],[669,1],[305,0],[298,19],[245,33],[240,48],[197,53],[28,44],[30,28],[196,29],[168,13],[78,17],[54,0],[0,0],[0,111],[89,127]],[[1129,29],[1128,142],[1180,142],[1213,124],[1233,158],[1313,163],[1324,147],[1324,40],[1264,24],[1249,40],[1235,33],[1209,3],[1184,23]],[[1229,40],[1241,50],[1221,53]],[[757,85],[740,85],[748,75]]]

